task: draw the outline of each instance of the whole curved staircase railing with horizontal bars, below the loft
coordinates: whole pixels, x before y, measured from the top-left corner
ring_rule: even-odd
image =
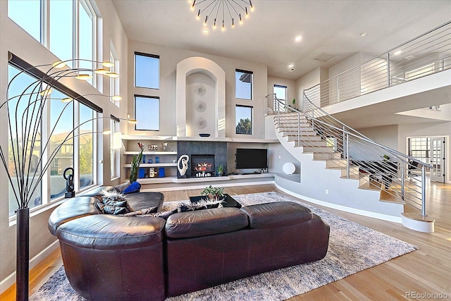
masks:
[[[302,111],[287,106],[275,94],[266,98],[268,114],[275,116],[278,129],[286,130],[295,140],[295,146],[317,146],[317,140],[303,135],[307,123],[317,139],[326,142],[333,153],[339,154],[339,158],[330,160],[333,160],[333,166],[345,169],[348,178],[360,178],[366,181],[365,185],[369,188],[381,188],[386,194],[404,201],[426,216],[426,168],[432,166],[374,142],[310,102],[306,94]],[[329,153],[330,149],[327,151],[325,153]],[[421,175],[411,177],[414,169],[421,171]]]

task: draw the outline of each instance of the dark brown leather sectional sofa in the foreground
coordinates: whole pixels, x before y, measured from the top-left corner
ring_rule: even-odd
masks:
[[[167,221],[99,214],[94,202],[69,199],[49,218],[68,280],[88,300],[164,300],[314,262],[328,250],[329,226],[295,202],[185,211]]]

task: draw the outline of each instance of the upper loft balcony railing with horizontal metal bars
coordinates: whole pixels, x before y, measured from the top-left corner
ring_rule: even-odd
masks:
[[[324,107],[451,68],[451,21],[305,90]]]

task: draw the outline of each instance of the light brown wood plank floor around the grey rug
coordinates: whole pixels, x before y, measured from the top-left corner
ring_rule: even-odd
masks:
[[[200,191],[179,190],[163,194],[165,201],[176,201],[199,195]],[[280,192],[274,185],[242,186],[225,190],[230,195],[267,191]],[[440,295],[420,295],[426,293],[442,293],[451,300],[451,185],[431,183],[427,193],[427,213],[435,218],[435,233],[431,234],[411,231],[398,223],[371,219],[313,204],[376,231],[417,245],[419,250],[298,295],[290,301],[442,299]],[[60,266],[61,255],[59,250],[56,250],[32,269],[30,295]],[[16,288],[13,286],[0,295],[0,300],[16,300],[15,295]]]

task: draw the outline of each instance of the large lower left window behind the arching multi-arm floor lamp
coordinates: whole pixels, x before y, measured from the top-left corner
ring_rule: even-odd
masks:
[[[11,82],[8,90],[8,98],[11,98],[11,101],[8,102],[10,109],[16,109],[18,100],[16,95],[20,95],[25,87],[30,86],[25,91],[27,93],[31,93],[32,89],[35,88],[33,84],[35,82],[34,77],[27,73],[20,73],[18,68],[9,65],[8,82],[16,75],[18,77]],[[42,123],[37,125],[37,137],[34,143],[29,142],[27,145],[28,139],[23,140],[20,137],[23,128],[22,130],[16,130],[14,126],[16,122],[13,120],[13,116],[16,115],[11,114],[11,125],[13,125],[11,135],[14,140],[18,140],[20,145],[23,145],[24,148],[26,147],[25,153],[31,158],[26,176],[29,182],[34,180],[35,183],[38,183],[37,189],[30,198],[29,206],[32,209],[50,204],[52,201],[63,197],[64,192],[66,192],[66,180],[63,178],[63,172],[68,167],[75,169],[74,184],[76,191],[94,185],[95,182],[94,162],[96,160],[94,145],[96,140],[94,137],[96,136],[93,133],[95,132],[95,125],[92,119],[96,118],[97,114],[93,109],[79,102],[62,102],[62,99],[67,98],[68,94],[61,92],[56,87],[51,87],[51,90],[53,91],[51,92],[51,98],[47,98],[46,102],[42,102],[42,99],[37,96],[32,96],[33,102],[36,102],[37,106],[42,106],[43,112],[47,112],[42,114]],[[34,95],[37,94],[35,93]],[[25,113],[28,100],[28,98],[21,99],[17,116],[22,116]],[[8,142],[8,165],[11,166],[10,170],[13,171],[15,170],[13,158],[14,156],[17,157],[18,153],[17,149],[13,150],[11,147],[11,136]],[[62,145],[61,142],[63,142]],[[47,150],[44,152],[43,149],[46,145]],[[54,152],[55,156],[52,161],[49,161],[52,152]],[[42,181],[39,182],[41,167],[46,165],[49,166],[47,173],[44,174]],[[11,177],[13,182],[16,182],[16,174],[11,174]],[[13,190],[17,191],[16,185],[14,187],[10,185],[9,187],[10,216],[13,216],[17,209]]]

